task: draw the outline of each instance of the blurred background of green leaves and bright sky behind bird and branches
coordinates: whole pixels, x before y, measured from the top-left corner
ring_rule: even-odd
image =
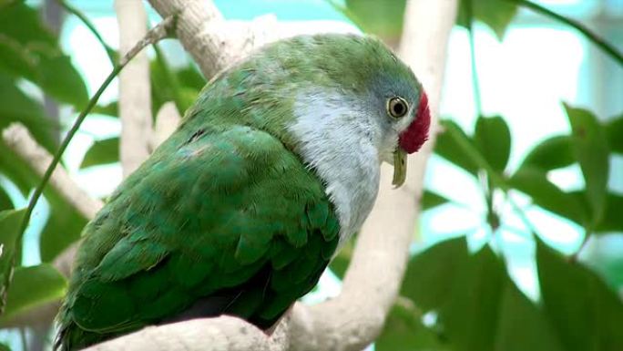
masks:
[[[0,2],[0,128],[20,121],[54,151],[112,69],[108,54],[118,46],[113,2],[13,3]],[[230,20],[274,14],[301,33],[366,32],[393,47],[405,5],[214,3]],[[623,0],[528,4],[461,2],[445,69],[444,133],[426,172],[413,258],[402,296],[372,348],[623,349]],[[90,20],[109,52],[67,5]],[[157,24],[158,14],[150,8],[148,14]],[[619,57],[569,26],[568,18]],[[176,40],[148,48],[148,56],[153,110],[167,101],[188,108],[205,84],[189,56]],[[94,197],[106,199],[121,181],[120,128],[113,82],[63,157],[71,177]],[[0,144],[0,210],[25,207],[37,180]],[[25,267],[53,261],[86,221],[55,191],[45,195],[24,239]],[[308,301],[339,292],[351,251],[337,257]],[[41,276],[48,283],[28,286],[46,285],[49,292],[18,302],[0,322],[63,294],[62,277]],[[47,349],[49,335],[49,325],[25,325],[5,328],[0,341],[13,350]]]

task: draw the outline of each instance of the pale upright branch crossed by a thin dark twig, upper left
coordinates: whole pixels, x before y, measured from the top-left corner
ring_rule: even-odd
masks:
[[[116,0],[119,51],[125,55],[147,34],[147,14],[140,0]],[[119,116],[122,129],[119,156],[125,177],[149,156],[151,85],[149,61],[142,52],[119,74]]]

